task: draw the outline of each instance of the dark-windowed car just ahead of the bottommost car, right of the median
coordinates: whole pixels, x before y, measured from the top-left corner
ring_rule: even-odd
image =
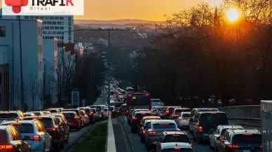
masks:
[[[190,146],[193,148],[191,139],[184,131],[164,131],[163,134],[158,137],[158,139],[155,139],[155,141],[153,142],[153,147],[157,147],[161,143],[168,142],[184,142],[190,144]]]

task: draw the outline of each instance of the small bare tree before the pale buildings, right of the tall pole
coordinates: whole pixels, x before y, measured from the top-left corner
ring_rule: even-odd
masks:
[[[34,110],[34,102],[36,97],[41,95],[41,90],[38,85],[38,78],[37,76],[29,76],[29,81],[27,83],[27,92],[32,99],[32,109]],[[38,99],[39,100],[39,99]]]

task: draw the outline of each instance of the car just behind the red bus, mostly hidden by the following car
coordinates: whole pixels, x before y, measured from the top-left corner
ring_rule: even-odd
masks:
[[[131,127],[130,130],[132,133],[138,132],[138,125],[140,125],[140,121],[144,116],[152,116],[150,111],[135,111],[133,112],[131,119]]]

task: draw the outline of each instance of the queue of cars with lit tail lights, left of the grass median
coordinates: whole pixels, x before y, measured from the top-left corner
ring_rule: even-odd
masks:
[[[104,105],[44,111],[1,111],[0,151],[61,151],[71,130],[79,131],[108,117]]]

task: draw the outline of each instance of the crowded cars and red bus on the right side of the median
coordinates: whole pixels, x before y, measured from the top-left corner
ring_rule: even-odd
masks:
[[[120,99],[115,98],[120,91],[111,92],[115,95],[110,101],[115,104],[112,117],[125,117],[130,133],[138,134],[146,151],[202,152],[196,146],[207,144],[208,151],[262,151],[261,132],[230,124],[226,113],[217,108],[165,106],[160,99],[151,99],[148,92],[133,88],[125,89],[124,104],[119,105]]]

